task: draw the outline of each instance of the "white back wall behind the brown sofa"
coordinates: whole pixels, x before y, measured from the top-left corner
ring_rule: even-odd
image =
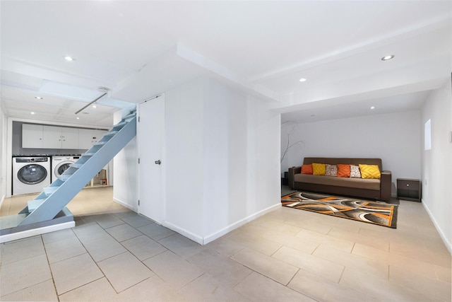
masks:
[[[420,179],[422,128],[417,110],[297,124],[290,140],[303,140],[304,146],[288,152],[281,172],[301,165],[304,157],[381,158],[394,184],[397,178]],[[281,135],[285,141],[287,135]]]

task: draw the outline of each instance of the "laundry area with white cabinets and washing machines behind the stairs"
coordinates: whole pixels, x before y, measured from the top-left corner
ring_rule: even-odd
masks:
[[[58,179],[108,129],[12,122],[11,195],[41,192]],[[85,187],[112,185],[108,163]]]

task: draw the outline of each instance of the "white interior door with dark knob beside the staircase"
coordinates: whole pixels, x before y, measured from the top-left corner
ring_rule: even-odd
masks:
[[[162,223],[165,95],[139,104],[138,117],[138,212]]]

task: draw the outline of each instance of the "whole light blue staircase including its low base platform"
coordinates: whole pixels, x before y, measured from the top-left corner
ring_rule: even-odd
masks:
[[[18,215],[1,217],[0,235],[49,226],[52,225],[50,221],[73,221],[73,215],[66,205],[135,136],[136,112],[133,111],[83,153],[49,187],[44,187]]]

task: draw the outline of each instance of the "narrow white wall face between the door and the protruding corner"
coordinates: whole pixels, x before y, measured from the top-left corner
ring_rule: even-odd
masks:
[[[165,224],[193,240],[203,234],[203,81],[165,93]],[[139,138],[138,138],[139,139]]]

